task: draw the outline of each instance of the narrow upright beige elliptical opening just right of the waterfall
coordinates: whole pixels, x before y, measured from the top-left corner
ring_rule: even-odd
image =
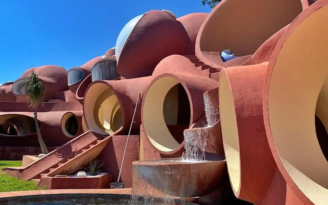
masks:
[[[229,82],[224,73],[221,74],[219,83],[219,107],[224,154],[231,184],[237,192],[240,186],[240,156],[235,106]]]

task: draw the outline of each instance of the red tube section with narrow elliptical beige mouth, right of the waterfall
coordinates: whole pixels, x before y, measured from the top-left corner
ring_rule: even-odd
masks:
[[[268,63],[224,68],[219,78],[224,153],[236,197],[260,204],[276,163],[263,122],[262,95]]]

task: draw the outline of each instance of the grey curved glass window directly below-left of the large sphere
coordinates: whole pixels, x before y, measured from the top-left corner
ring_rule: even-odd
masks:
[[[91,70],[92,81],[95,80],[115,80],[120,77],[116,70],[115,60],[104,60],[93,66]]]

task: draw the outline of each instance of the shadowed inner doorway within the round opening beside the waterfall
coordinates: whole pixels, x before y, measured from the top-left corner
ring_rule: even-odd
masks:
[[[165,96],[163,115],[167,128],[179,144],[184,140],[183,131],[189,128],[190,113],[188,94],[178,83]]]

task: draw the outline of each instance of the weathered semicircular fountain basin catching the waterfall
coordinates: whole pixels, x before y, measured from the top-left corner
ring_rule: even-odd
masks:
[[[171,158],[134,161],[132,165],[132,192],[140,187],[151,186],[165,195],[204,196],[222,185],[227,176],[226,160],[186,162],[181,158]]]

